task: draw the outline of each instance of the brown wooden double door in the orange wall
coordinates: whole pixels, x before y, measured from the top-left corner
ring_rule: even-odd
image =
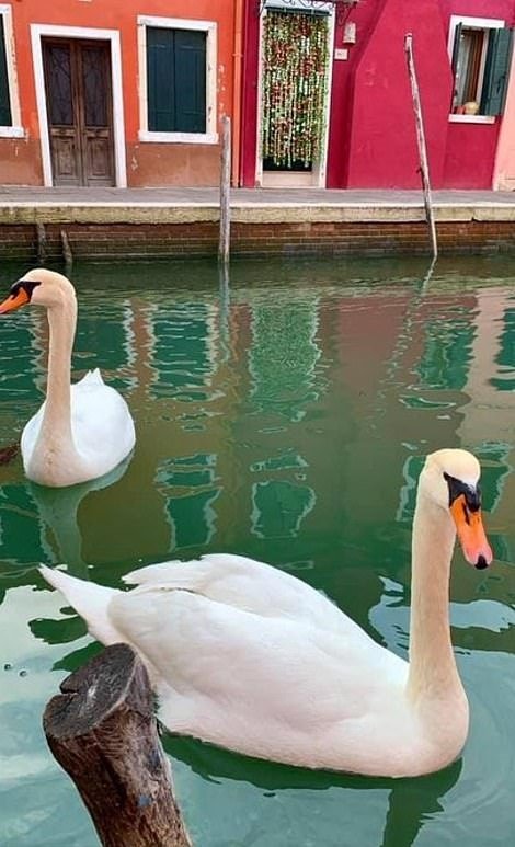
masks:
[[[114,185],[111,45],[43,42],[54,185]]]

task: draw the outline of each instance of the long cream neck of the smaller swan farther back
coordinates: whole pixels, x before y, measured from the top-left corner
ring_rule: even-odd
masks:
[[[71,348],[76,334],[77,300],[73,295],[48,307],[49,353],[45,414],[39,440],[55,442],[75,450],[71,434]]]

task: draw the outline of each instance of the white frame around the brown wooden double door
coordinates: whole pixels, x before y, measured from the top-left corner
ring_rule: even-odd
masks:
[[[50,157],[50,135],[46,108],[45,75],[43,69],[42,38],[89,38],[111,42],[111,84],[113,89],[113,146],[114,176],[117,188],[127,187],[125,159],[124,96],[122,88],[122,51],[118,30],[92,30],[87,26],[57,26],[54,24],[31,24],[34,81],[36,85],[37,119],[42,144],[43,184],[54,185]]]

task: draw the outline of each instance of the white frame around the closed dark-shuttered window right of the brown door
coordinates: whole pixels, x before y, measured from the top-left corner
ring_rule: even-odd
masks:
[[[138,78],[139,78],[139,141],[160,144],[218,144],[217,133],[217,39],[215,21],[187,18],[157,18],[138,15]],[[164,30],[195,30],[206,33],[206,131],[205,133],[153,133],[148,128],[147,91],[147,26]]]

